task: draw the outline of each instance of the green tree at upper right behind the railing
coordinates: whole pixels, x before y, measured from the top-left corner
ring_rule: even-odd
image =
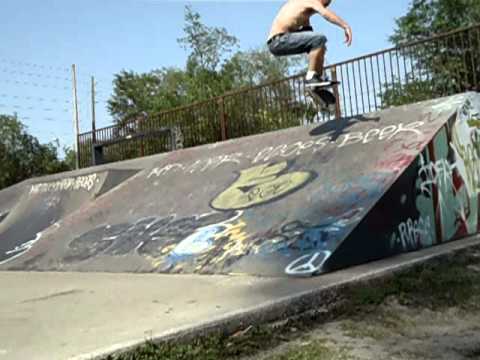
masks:
[[[390,40],[401,46],[476,24],[480,24],[478,0],[413,0],[396,20]],[[480,67],[472,65],[480,59],[480,43],[469,32],[406,48],[403,55],[412,59],[410,81],[389,86],[381,94],[384,106],[480,90],[474,81],[480,79]]]

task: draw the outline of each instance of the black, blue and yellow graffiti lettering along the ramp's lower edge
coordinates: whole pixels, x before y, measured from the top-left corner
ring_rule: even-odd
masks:
[[[228,263],[247,252],[241,211],[212,212],[177,218],[148,217],[133,224],[104,225],[74,239],[66,262],[80,262],[99,255],[136,254],[159,271],[171,271],[194,260],[198,270]],[[220,251],[221,249],[221,251]]]

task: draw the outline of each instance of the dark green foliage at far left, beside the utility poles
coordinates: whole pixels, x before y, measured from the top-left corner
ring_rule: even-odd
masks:
[[[58,159],[58,143],[40,144],[17,116],[0,115],[0,189],[33,176],[70,169]]]

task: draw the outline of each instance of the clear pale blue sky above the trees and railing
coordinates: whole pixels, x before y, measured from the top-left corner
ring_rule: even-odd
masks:
[[[0,114],[17,113],[42,143],[74,141],[72,64],[76,65],[80,131],[91,129],[91,77],[96,85],[97,128],[112,124],[106,101],[114,74],[183,68],[187,52],[184,9],[191,5],[208,26],[224,27],[239,50],[262,46],[283,4],[276,0],[2,0],[0,21]],[[334,0],[330,8],[353,29],[343,31],[320,16],[316,31],[328,37],[332,64],[392,46],[395,19],[410,0]]]

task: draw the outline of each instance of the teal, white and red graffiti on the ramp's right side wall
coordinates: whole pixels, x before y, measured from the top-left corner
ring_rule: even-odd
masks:
[[[417,208],[437,223],[440,241],[478,228],[478,112],[466,102],[419,157]]]

